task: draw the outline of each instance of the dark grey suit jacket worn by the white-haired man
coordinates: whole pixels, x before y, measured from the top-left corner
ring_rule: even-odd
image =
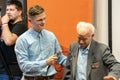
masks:
[[[63,80],[76,80],[79,43],[70,45]],[[110,49],[92,40],[87,59],[87,80],[103,80],[106,75],[120,77],[120,63],[110,53]]]

